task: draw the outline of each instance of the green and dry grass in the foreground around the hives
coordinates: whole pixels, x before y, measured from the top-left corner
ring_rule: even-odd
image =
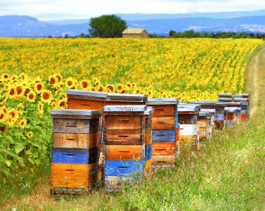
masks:
[[[261,51],[260,51],[261,52]],[[259,56],[259,95],[252,120],[214,134],[176,170],[157,170],[143,184],[83,196],[49,196],[49,165],[0,181],[1,210],[264,210],[265,53]],[[254,58],[253,58],[254,59]],[[252,75],[250,60],[247,75]],[[252,77],[246,91],[254,95]]]

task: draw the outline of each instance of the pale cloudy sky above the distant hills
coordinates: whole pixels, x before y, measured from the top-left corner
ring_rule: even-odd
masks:
[[[257,11],[265,0],[0,0],[0,15],[39,20],[91,18],[117,13],[207,13]]]

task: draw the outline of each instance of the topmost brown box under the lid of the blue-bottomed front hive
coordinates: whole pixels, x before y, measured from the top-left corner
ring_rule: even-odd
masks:
[[[105,116],[105,128],[108,129],[141,129],[141,116]]]

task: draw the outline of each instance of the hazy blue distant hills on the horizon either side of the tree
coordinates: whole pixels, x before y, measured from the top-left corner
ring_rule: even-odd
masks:
[[[264,11],[265,12],[265,11]],[[262,11],[260,11],[262,13]],[[235,15],[235,14],[234,14]],[[67,22],[63,24],[62,21]],[[0,37],[48,37],[88,34],[89,20],[60,20],[57,24],[43,22],[30,16],[0,16]],[[127,20],[129,27],[144,27],[149,33],[183,32],[261,32],[265,33],[265,14],[240,18],[166,18]]]

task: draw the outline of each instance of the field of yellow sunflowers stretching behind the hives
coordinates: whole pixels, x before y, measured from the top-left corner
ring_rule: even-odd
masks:
[[[243,92],[257,39],[0,39],[0,176],[49,162],[67,89],[181,101]]]

